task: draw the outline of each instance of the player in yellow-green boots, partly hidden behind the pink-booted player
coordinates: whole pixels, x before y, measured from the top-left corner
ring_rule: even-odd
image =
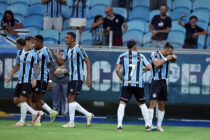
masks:
[[[52,89],[52,78],[54,72],[52,53],[43,45],[43,37],[41,35],[35,36],[36,43],[35,48],[39,58],[39,74],[37,77],[37,85],[32,89],[33,96],[35,98],[35,104],[37,110],[46,110],[50,114],[50,122],[52,123],[58,112],[52,110],[43,100],[42,95],[46,94],[46,90]],[[41,126],[41,123],[36,123],[37,126]]]

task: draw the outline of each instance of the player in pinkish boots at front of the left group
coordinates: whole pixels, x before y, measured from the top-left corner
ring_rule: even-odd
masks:
[[[21,118],[13,126],[24,126],[25,118],[27,111],[29,111],[32,115],[35,115],[35,119],[32,122],[32,125],[36,123],[40,119],[40,116],[43,112],[37,112],[32,109],[27,104],[27,99],[30,96],[31,88],[36,86],[36,79],[38,76],[38,63],[37,63],[37,54],[32,50],[33,37],[29,36],[25,39],[26,46],[25,48],[18,50],[16,57],[16,65],[12,69],[10,75],[6,78],[5,82],[8,83],[12,76],[20,70],[19,80],[14,93],[14,104],[20,107]],[[22,40],[23,44],[25,43]],[[23,45],[22,44],[22,45]],[[31,83],[32,82],[32,83]]]

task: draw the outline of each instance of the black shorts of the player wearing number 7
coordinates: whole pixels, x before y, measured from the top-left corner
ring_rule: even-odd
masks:
[[[140,87],[132,87],[132,86],[123,86],[121,88],[121,95],[120,100],[128,103],[132,97],[132,94],[134,94],[137,101],[144,102],[144,88]]]

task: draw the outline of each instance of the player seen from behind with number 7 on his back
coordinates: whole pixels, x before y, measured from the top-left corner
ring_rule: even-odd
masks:
[[[150,70],[151,65],[144,55],[137,52],[138,46],[135,41],[128,41],[127,47],[128,51],[118,57],[116,64],[116,73],[122,81],[120,103],[117,111],[117,130],[122,130],[125,106],[130,101],[132,94],[134,94],[142,111],[146,130],[150,131],[149,114],[145,105],[143,68],[145,66],[147,70]]]

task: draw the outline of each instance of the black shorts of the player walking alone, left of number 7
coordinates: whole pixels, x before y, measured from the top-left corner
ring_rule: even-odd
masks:
[[[82,88],[82,80],[72,80],[68,82],[67,93],[69,94],[79,94]]]

